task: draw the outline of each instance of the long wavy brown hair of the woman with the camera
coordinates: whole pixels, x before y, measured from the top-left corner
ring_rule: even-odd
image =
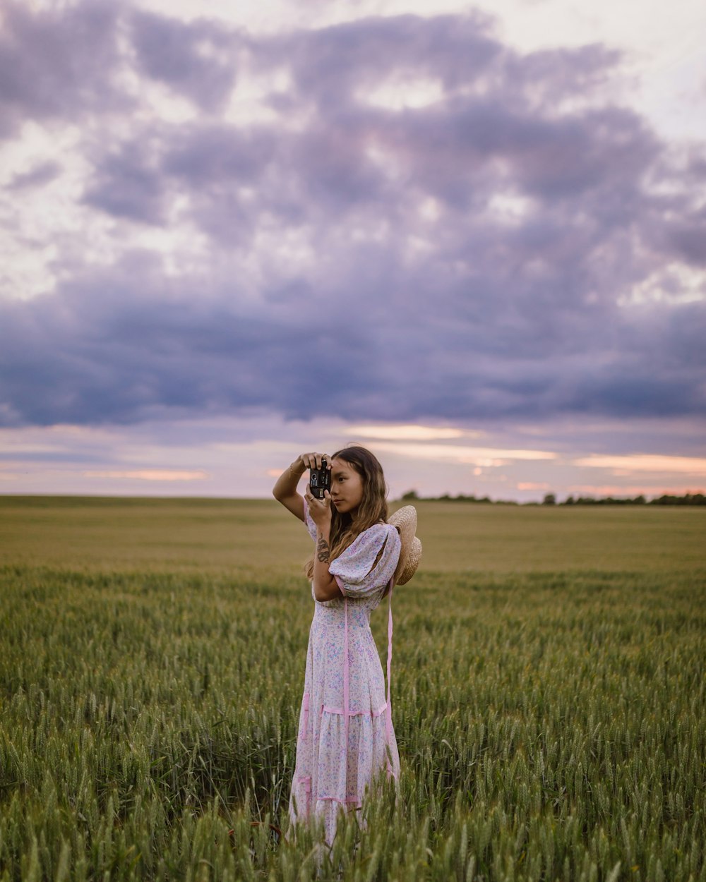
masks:
[[[331,459],[347,462],[363,481],[363,498],[358,505],[355,519],[349,512],[339,514],[332,506],[329,546],[331,560],[334,560],[368,527],[379,524],[380,521],[387,523],[387,485],[377,457],[365,447],[344,447],[335,452]],[[307,579],[313,579],[313,556],[304,564],[304,572]]]

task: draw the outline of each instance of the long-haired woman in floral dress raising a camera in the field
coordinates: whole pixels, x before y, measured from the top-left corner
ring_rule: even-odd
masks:
[[[319,500],[307,485],[301,497],[299,478],[307,468],[320,468],[324,457],[331,470],[331,492]],[[401,540],[397,528],[387,523],[382,467],[364,447],[346,447],[333,457],[302,453],[282,473],[273,495],[304,521],[316,549],[306,565],[316,605],[289,818],[294,824],[322,817],[330,845],[339,809],[360,808],[365,786],[382,766],[387,766],[388,777],[399,776],[389,703],[391,647],[386,699],[370,614],[394,584]],[[391,617],[388,636],[392,638]]]

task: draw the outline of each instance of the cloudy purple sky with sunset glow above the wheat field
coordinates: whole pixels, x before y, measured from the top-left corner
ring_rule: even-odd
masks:
[[[2,0],[0,493],[706,489],[706,12]]]

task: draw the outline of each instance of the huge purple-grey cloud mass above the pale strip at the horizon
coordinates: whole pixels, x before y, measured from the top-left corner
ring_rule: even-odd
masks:
[[[706,150],[611,98],[612,49],[2,14],[2,146],[57,146],[5,189],[47,278],[4,273],[1,425],[704,413]]]

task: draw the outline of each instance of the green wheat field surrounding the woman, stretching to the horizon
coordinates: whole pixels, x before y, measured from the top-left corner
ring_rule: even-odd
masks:
[[[328,854],[285,838],[304,525],[0,497],[0,880],[704,882],[706,512],[416,505],[399,792]]]

